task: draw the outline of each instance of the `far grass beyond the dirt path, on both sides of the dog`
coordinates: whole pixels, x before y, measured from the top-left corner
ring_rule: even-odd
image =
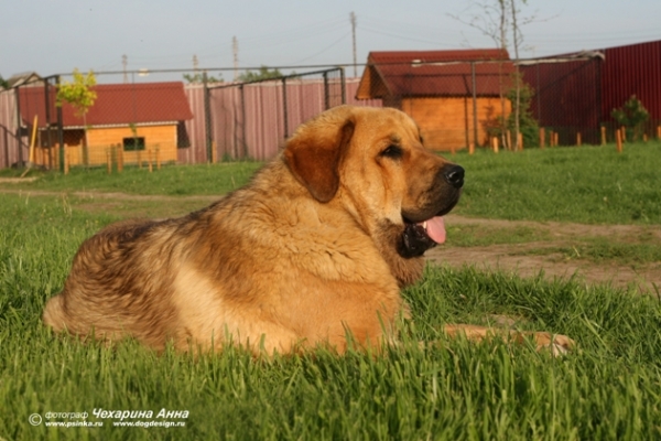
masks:
[[[503,219],[585,224],[661,224],[661,143],[615,147],[478,151],[448,158],[466,169],[458,214]],[[130,168],[108,175],[105,169],[75,169],[71,175],[41,176],[0,187],[42,191],[99,191],[129,194],[223,194],[243,185],[258,162],[164,166],[149,173]],[[15,176],[3,171],[0,176]]]

